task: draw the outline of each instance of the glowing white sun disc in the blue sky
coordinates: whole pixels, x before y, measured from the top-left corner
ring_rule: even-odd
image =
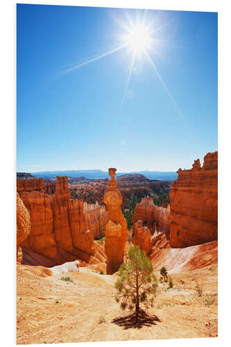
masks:
[[[142,51],[146,51],[151,44],[151,35],[145,26],[136,26],[126,35],[125,41],[132,51],[141,53]]]

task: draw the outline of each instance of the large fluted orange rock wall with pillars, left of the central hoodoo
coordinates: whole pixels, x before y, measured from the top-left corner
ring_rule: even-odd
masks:
[[[48,264],[49,259],[60,264],[76,257],[87,261],[94,255],[93,233],[85,224],[83,201],[69,198],[67,177],[57,177],[53,196],[44,192],[40,178],[17,180],[17,191],[31,216],[31,233],[23,243],[26,262],[45,264],[48,258]]]

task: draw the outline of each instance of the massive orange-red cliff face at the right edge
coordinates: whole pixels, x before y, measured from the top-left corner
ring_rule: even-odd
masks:
[[[207,153],[203,167],[178,170],[170,192],[170,244],[182,248],[217,240],[218,152]]]

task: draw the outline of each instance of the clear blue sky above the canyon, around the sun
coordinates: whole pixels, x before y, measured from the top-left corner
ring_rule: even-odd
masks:
[[[171,96],[144,52],[126,90],[127,46],[69,69],[116,49],[121,24],[143,15],[17,5],[17,171],[176,171],[217,150],[216,13],[146,11]]]

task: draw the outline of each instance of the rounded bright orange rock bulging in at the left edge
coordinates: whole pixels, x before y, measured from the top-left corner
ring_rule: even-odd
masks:
[[[22,248],[20,244],[28,237],[30,231],[30,214],[17,193],[17,262],[22,262]]]

